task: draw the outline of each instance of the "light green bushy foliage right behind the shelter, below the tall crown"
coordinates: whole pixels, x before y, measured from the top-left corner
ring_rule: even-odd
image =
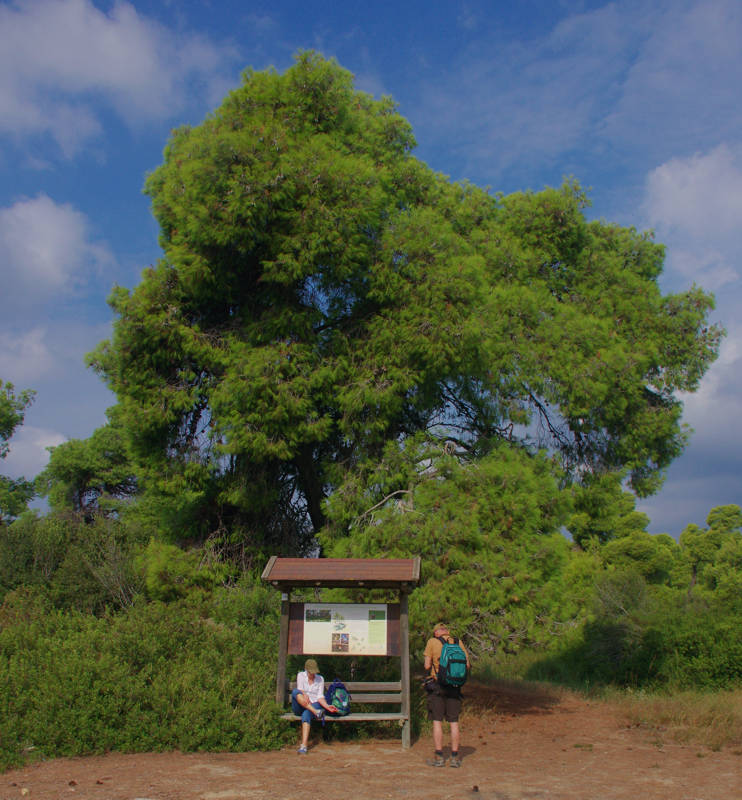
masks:
[[[431,444],[390,445],[375,472],[328,505],[343,526],[356,517],[351,535],[330,526],[321,541],[338,557],[421,556],[410,598],[414,649],[445,619],[475,656],[514,652],[548,641],[574,611],[561,585],[567,508],[543,454],[500,446],[462,464]]]

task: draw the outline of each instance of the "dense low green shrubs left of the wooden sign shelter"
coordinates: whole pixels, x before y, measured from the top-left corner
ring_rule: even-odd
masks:
[[[245,751],[294,731],[272,700],[277,593],[250,583],[209,600],[96,618],[18,590],[0,608],[0,768],[108,750]]]

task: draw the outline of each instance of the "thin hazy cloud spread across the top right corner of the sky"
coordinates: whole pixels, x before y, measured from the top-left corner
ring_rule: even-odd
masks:
[[[422,77],[406,113],[427,129],[426,150],[445,149],[447,172],[456,156],[455,177],[636,180],[739,137],[740,41],[738,0],[620,0],[527,40],[483,19],[442,80]]]

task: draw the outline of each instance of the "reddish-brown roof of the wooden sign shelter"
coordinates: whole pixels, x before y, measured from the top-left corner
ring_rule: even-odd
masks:
[[[279,589],[292,586],[412,589],[420,580],[420,558],[279,558],[271,556],[261,576]]]

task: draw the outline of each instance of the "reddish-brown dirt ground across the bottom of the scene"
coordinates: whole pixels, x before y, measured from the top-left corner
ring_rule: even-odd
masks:
[[[673,744],[571,694],[468,686],[460,769],[427,765],[430,738],[323,741],[309,754],[112,753],[0,775],[0,799],[740,800],[742,751]]]

